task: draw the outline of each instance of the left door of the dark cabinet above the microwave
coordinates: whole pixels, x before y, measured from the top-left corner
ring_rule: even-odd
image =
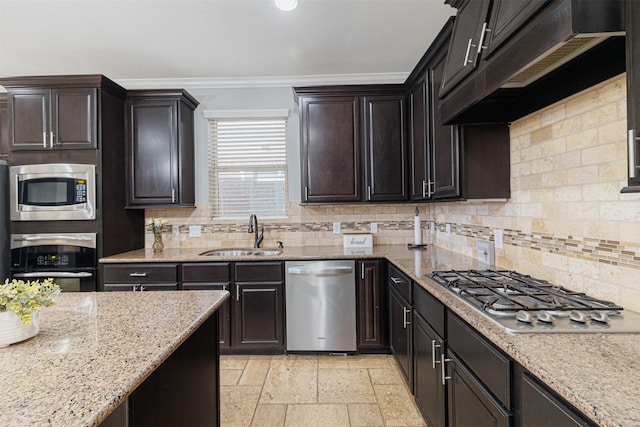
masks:
[[[9,142],[13,150],[47,148],[50,97],[48,89],[15,89],[9,92]]]

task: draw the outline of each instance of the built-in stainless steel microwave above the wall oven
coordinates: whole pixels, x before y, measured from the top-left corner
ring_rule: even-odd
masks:
[[[9,168],[12,221],[96,217],[96,167],[48,163]]]

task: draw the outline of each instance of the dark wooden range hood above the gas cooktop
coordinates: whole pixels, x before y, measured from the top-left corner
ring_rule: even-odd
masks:
[[[625,72],[623,0],[527,2],[537,13],[443,95],[444,123],[511,122]]]

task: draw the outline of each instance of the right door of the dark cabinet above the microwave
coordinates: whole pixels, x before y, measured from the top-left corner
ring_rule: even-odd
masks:
[[[51,101],[53,147],[49,148],[97,148],[97,89],[52,90]]]

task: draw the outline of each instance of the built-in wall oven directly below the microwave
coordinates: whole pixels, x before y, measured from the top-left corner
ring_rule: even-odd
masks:
[[[95,291],[96,233],[11,235],[11,276],[53,278],[63,291]]]

